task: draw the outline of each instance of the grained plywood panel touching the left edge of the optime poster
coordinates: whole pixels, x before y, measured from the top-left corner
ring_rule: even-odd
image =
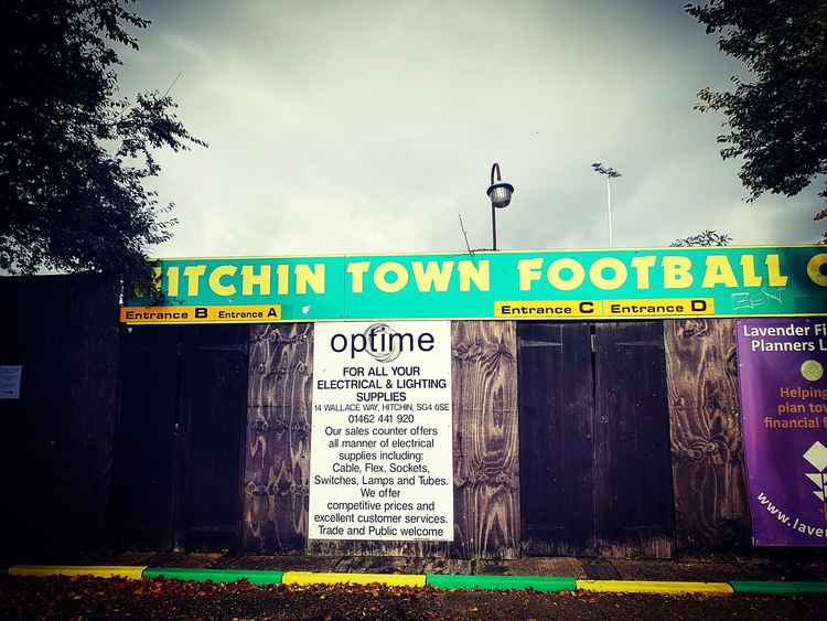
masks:
[[[302,554],[308,534],[313,324],[250,326],[244,547]]]

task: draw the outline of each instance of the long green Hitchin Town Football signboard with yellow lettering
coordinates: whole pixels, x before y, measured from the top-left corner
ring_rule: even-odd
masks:
[[[125,323],[827,314],[827,247],[159,259]]]

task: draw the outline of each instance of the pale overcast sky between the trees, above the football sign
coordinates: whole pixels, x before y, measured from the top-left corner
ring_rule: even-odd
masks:
[[[515,185],[502,249],[814,242],[815,190],[742,201],[721,117],[692,110],[740,64],[684,0],[143,1],[123,94],[172,89],[208,149],[164,153],[179,225],[157,256],[491,245],[491,164]]]

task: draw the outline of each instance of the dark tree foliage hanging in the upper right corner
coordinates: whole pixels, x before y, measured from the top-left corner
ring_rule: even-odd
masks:
[[[794,196],[827,174],[827,1],[710,0],[685,9],[750,75],[733,76],[729,92],[701,89],[696,106],[723,114],[721,156],[742,158],[748,200]],[[825,205],[815,220],[827,217],[827,182],[818,195]]]

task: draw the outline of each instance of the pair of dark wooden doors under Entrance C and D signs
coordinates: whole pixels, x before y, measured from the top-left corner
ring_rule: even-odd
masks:
[[[672,556],[663,326],[518,324],[528,555]]]

